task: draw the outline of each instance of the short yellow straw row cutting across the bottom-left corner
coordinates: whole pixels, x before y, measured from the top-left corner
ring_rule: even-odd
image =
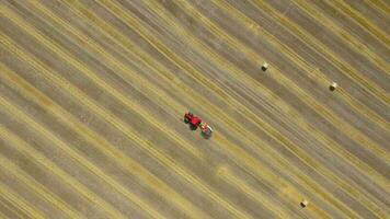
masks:
[[[0,154],[1,162],[4,157]],[[25,215],[36,219],[45,219],[43,212],[27,203],[23,197],[14,193],[8,185],[0,181],[0,196],[10,201],[14,207],[23,211]]]

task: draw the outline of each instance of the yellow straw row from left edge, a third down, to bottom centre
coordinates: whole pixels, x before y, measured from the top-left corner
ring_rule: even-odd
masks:
[[[18,77],[18,74],[11,72],[3,65],[0,64],[0,69],[5,72],[4,76],[5,81],[9,82],[11,87],[18,88],[16,90],[20,93],[23,93],[28,100],[33,100],[41,106],[45,106],[45,104],[50,104],[50,108],[47,108],[53,115],[58,117],[62,124],[66,124],[68,127],[73,129],[76,132],[80,134],[88,142],[91,142],[97,150],[102,151],[105,155],[110,157],[117,165],[119,165],[123,170],[135,175],[144,183],[147,183],[150,189],[158,193],[162,198],[167,199],[174,206],[177,206],[183,210],[187,216],[192,216],[192,218],[209,218],[206,214],[202,212],[196,207],[193,207],[191,203],[180,196],[174,189],[164,184],[160,178],[156,177],[152,173],[146,170],[142,165],[138,164],[133,159],[123,155],[123,152],[113,147],[105,139],[100,137],[96,132],[89,129],[82,123],[80,123],[74,116],[67,113],[64,108],[61,108],[58,104],[53,102],[49,97],[45,96],[41,91],[33,88],[26,81]],[[0,76],[2,78],[3,76]]]

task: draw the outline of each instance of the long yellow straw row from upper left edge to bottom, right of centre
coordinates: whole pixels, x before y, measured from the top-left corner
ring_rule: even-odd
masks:
[[[223,199],[222,197],[220,197],[220,195],[213,192],[213,189],[210,189],[210,187],[206,185],[200,178],[191,174],[190,171],[187,171],[184,166],[176,163],[171,157],[168,157],[167,154],[162,153],[160,150],[156,149],[153,146],[150,145],[150,142],[139,138],[139,134],[137,130],[133,129],[127,124],[124,124],[121,119],[111,115],[105,110],[102,110],[99,106],[99,104],[94,103],[94,101],[90,100],[88,96],[85,96],[82,92],[80,92],[77,88],[71,85],[65,79],[60,78],[59,76],[53,74],[51,72],[56,72],[55,70],[50,69],[49,67],[45,66],[38,60],[31,59],[26,55],[27,53],[24,51],[24,49],[22,48],[18,48],[18,46],[15,46],[9,37],[5,38],[5,36],[1,34],[0,38],[2,39],[2,44],[3,45],[5,44],[5,46],[8,46],[9,50],[14,53],[18,57],[22,58],[25,62],[30,64],[37,71],[41,71],[41,73],[44,74],[45,78],[47,78],[49,81],[53,81],[53,84],[58,84],[59,88],[69,91],[69,94],[78,99],[78,101],[83,103],[88,108],[90,108],[91,112],[101,116],[106,122],[108,122],[114,127],[116,127],[118,130],[121,130],[123,134],[125,134],[128,138],[138,142],[137,146],[139,146],[140,149],[147,151],[151,157],[156,159],[156,161],[167,166],[168,170],[173,170],[174,172],[176,172],[187,182],[194,184],[195,187],[200,189],[204,194],[208,195],[211,199],[220,203],[221,206],[223,206],[227,210],[229,210],[231,214],[236,215],[237,217],[243,219],[252,218],[245,212],[241,212],[241,210],[237,210],[228,200]],[[77,153],[74,153],[73,155],[78,157]],[[89,168],[92,169],[92,166]],[[94,169],[94,171],[100,172],[99,169]],[[108,181],[107,178],[105,180]],[[110,182],[111,183],[108,183],[108,185],[116,184],[112,181]]]

